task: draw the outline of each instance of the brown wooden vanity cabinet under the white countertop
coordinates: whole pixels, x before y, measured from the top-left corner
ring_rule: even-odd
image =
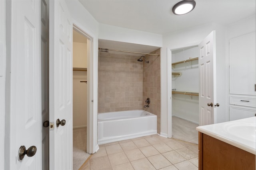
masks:
[[[255,170],[255,154],[199,132],[199,170]]]

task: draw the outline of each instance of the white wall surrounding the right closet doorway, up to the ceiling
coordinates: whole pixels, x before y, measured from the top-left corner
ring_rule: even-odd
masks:
[[[190,47],[198,45],[212,30],[216,30],[216,65],[217,74],[220,72],[222,76],[217,76],[217,101],[221,104],[218,108],[217,122],[228,121],[229,115],[226,112],[226,29],[222,25],[216,23],[209,23],[205,25],[200,25],[197,27],[191,27],[163,35],[163,47],[161,49],[161,132],[168,132],[167,129],[167,106],[170,105],[170,96],[167,95],[168,92],[166,80],[167,77],[167,50],[169,49],[180,49],[183,47]],[[224,97],[223,97],[224,95]]]

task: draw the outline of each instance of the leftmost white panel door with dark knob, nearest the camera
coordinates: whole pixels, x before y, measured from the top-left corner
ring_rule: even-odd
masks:
[[[11,64],[11,71],[8,72],[10,101],[7,100],[7,103],[10,102],[9,169],[41,169],[41,2],[38,0],[9,2],[12,4],[11,16],[8,16],[12,23],[8,29],[11,39],[8,39],[7,43],[11,47],[11,59],[8,59]],[[10,12],[7,7],[6,10]],[[31,154],[32,157],[27,156],[29,153],[24,154],[24,158],[19,160],[18,150],[21,146],[25,146],[26,150],[35,146],[36,153],[34,156]],[[7,156],[6,161],[8,160]]]

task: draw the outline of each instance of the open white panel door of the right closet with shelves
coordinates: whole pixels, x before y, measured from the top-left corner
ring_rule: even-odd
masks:
[[[212,31],[200,44],[199,125],[215,123],[216,119],[216,41]]]

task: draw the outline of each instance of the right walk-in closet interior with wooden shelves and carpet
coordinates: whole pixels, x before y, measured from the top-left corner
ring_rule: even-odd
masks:
[[[198,46],[172,50],[172,137],[198,144]]]

